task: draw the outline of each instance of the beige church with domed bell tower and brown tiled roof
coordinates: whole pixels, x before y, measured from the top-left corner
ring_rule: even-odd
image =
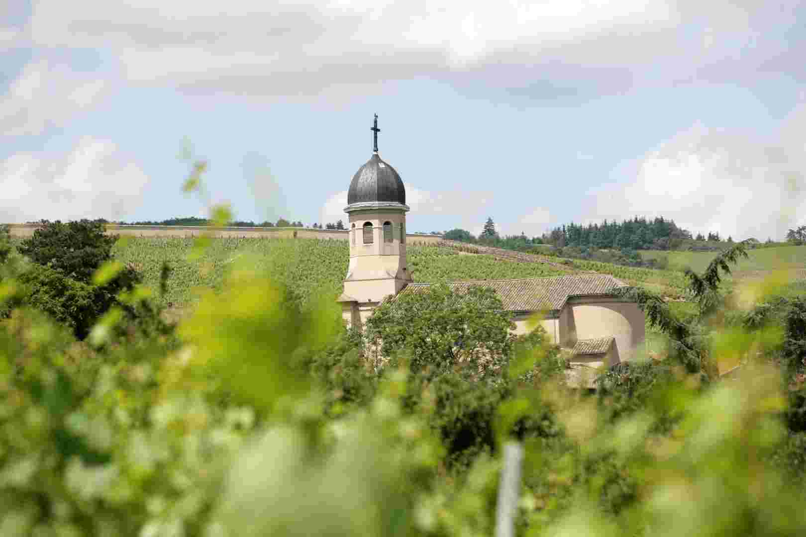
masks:
[[[414,283],[406,264],[409,206],[401,176],[378,155],[377,115],[372,131],[372,157],[355,172],[344,209],[350,264],[338,300],[345,323],[357,328],[384,299],[422,292],[430,285]],[[574,371],[581,374],[613,366],[643,353],[644,313],[637,304],[613,295],[613,289],[625,283],[611,275],[451,282],[448,286],[458,292],[469,286],[492,287],[512,314],[518,335],[526,333],[528,320],[538,315],[551,341],[571,353],[569,382],[574,382]]]

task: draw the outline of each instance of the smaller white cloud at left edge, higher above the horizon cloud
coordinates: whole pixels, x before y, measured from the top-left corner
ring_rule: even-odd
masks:
[[[47,61],[28,64],[0,97],[2,134],[42,134],[98,102],[107,83]]]

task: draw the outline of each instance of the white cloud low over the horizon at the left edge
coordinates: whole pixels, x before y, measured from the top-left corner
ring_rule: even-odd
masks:
[[[148,178],[107,140],[81,138],[60,155],[18,153],[0,162],[0,221],[118,220],[138,208]]]

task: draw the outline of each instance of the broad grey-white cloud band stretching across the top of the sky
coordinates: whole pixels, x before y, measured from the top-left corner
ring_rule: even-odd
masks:
[[[29,27],[42,47],[108,49],[130,81],[198,91],[297,97],[461,72],[513,88],[539,72],[562,87],[623,89],[642,76],[706,76],[739,42],[751,46],[729,69],[758,76],[755,59],[778,46],[767,29],[785,26],[796,3],[41,0]]]

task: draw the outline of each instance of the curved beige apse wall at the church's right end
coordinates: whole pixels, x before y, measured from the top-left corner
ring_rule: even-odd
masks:
[[[637,304],[615,302],[607,297],[586,297],[584,304],[569,304],[573,310],[576,337],[580,340],[615,337],[615,361],[629,361],[644,351],[644,314]]]

